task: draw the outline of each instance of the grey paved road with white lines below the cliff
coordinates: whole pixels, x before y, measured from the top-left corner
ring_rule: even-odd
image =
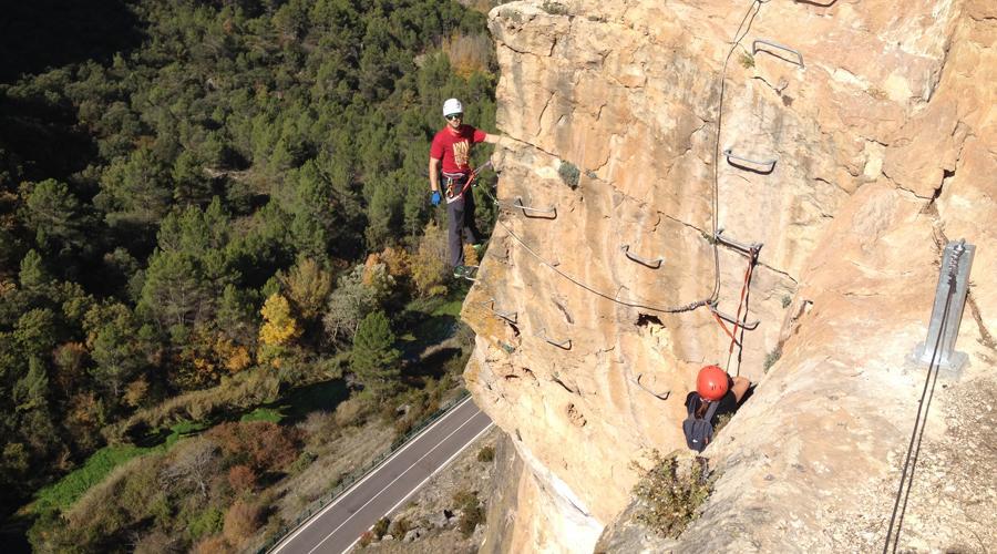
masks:
[[[469,397],[428,427],[374,472],[292,531],[273,554],[341,554],[469,444],[492,420]]]

